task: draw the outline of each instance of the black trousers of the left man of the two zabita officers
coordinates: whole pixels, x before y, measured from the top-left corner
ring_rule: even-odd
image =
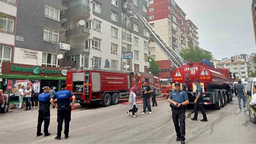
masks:
[[[50,124],[50,107],[39,108],[38,110],[38,124],[37,124],[37,134],[41,133],[41,126],[44,121],[44,134],[48,134],[48,127]]]

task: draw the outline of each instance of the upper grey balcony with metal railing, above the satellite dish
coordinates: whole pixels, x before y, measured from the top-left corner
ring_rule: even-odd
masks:
[[[78,4],[75,6],[71,6],[60,15],[60,20],[66,18],[76,18],[76,19],[84,19],[84,17],[90,17],[91,8],[84,4]]]

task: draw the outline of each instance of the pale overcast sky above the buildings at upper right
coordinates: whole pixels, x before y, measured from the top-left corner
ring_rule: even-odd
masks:
[[[198,28],[199,46],[214,58],[256,53],[252,0],[174,0]]]

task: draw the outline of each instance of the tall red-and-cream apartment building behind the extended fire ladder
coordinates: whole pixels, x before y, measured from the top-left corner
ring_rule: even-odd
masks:
[[[186,14],[173,0],[149,0],[148,22],[176,53],[188,48]],[[162,50],[150,41],[150,57],[159,64],[159,76],[170,76],[173,71],[171,61]]]

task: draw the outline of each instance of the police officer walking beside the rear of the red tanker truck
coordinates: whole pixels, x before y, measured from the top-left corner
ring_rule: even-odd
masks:
[[[196,85],[196,100],[195,102],[195,115],[193,118],[191,118],[192,121],[197,121],[197,116],[198,116],[198,109],[201,111],[201,113],[203,114],[203,119],[200,120],[201,122],[207,122],[207,117],[206,117],[206,113],[204,111],[204,99],[203,99],[203,89],[202,86],[200,84],[200,81],[198,79],[196,79],[194,81],[195,85]]]

